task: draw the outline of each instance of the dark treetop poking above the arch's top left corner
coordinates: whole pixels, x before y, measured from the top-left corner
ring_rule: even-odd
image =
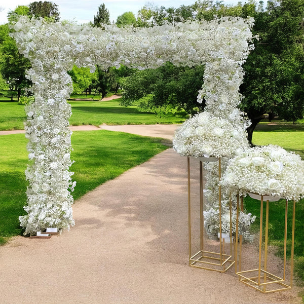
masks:
[[[59,21],[60,13],[58,11],[58,5],[52,3],[50,1],[35,1],[28,5],[29,7],[29,15],[35,16],[35,18],[47,18],[51,19],[51,21]]]

